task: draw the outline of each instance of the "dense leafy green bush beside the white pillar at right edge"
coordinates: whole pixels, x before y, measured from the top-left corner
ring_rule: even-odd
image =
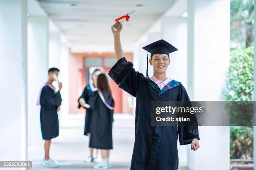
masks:
[[[228,101],[253,101],[253,47],[230,51],[230,65],[223,94]],[[246,108],[248,106],[245,105],[244,110]],[[241,115],[230,105],[228,110],[230,123],[237,122]],[[248,116],[252,116],[250,114]],[[252,126],[230,126],[230,159],[253,159]]]

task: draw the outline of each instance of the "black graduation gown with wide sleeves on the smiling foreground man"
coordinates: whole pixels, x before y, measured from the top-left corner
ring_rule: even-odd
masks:
[[[136,97],[135,143],[131,170],[177,170],[180,145],[199,139],[198,126],[151,126],[151,101],[189,101],[183,85],[176,80],[162,90],[155,82],[136,72],[125,57],[108,73],[120,88]]]

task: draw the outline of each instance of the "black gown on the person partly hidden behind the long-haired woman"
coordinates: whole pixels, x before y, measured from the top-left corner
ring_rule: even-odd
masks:
[[[83,98],[84,101],[88,104],[88,101],[91,95],[92,95],[92,89],[90,85],[87,85],[86,87],[84,87],[84,91],[82,92],[82,95],[79,97],[79,99]],[[78,99],[78,108],[82,107],[79,103],[79,99]],[[90,126],[92,121],[92,108],[90,107],[85,109],[86,109],[86,112],[85,112],[85,119],[84,119],[84,135],[87,135],[87,133],[90,133]]]

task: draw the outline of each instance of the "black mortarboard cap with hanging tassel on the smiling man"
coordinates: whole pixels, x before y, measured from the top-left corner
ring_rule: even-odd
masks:
[[[166,54],[169,56],[169,53],[172,53],[172,52],[178,50],[177,48],[175,48],[173,45],[171,45],[169,42],[167,42],[165,40],[158,40],[156,42],[153,42],[153,43],[143,47],[143,49],[151,53],[151,55],[150,55],[151,59],[154,54]],[[148,77],[148,55],[147,55],[146,76]]]

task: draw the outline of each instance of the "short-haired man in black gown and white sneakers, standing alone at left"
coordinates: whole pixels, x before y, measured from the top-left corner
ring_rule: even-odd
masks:
[[[41,105],[40,122],[42,137],[45,140],[44,149],[45,157],[42,165],[45,167],[58,167],[58,163],[49,157],[51,139],[59,136],[59,119],[58,114],[61,105],[62,83],[58,81],[59,91],[56,92],[52,82],[58,77],[59,69],[52,67],[48,70],[48,81],[45,83],[38,97],[37,105]]]

